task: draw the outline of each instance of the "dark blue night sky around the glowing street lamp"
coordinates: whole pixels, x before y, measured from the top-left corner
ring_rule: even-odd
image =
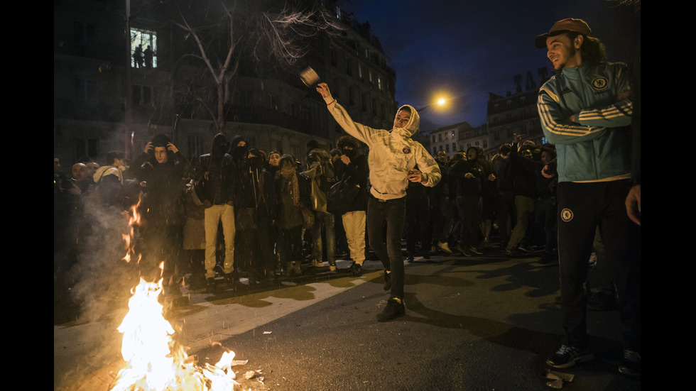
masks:
[[[640,33],[639,6],[607,0],[343,0],[369,22],[396,71],[396,100],[420,108],[439,92],[458,97],[444,112],[420,112],[421,131],[486,122],[489,92],[514,92],[514,75],[540,82],[546,50],[534,38],[564,18],[581,18],[607,46],[609,61],[631,63]],[[553,72],[553,70],[550,70]],[[549,74],[551,75],[551,74]]]

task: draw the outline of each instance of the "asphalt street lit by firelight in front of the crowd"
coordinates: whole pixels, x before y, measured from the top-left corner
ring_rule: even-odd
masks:
[[[558,266],[537,261],[499,249],[416,257],[406,315],[384,323],[377,261],[361,277],[338,261],[337,273],[310,268],[271,287],[184,292],[165,317],[200,365],[224,350],[246,360],[233,367],[235,390],[640,390],[640,377],[617,370],[616,311],[588,312],[594,362],[554,370],[570,382],[548,378],[545,358],[562,342]],[[54,390],[109,390],[124,365],[116,328],[126,311],[54,326]]]

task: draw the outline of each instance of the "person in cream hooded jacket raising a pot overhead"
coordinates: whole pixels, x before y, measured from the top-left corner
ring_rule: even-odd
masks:
[[[401,235],[406,219],[406,187],[408,182],[420,182],[433,187],[442,178],[435,159],[423,145],[411,140],[420,125],[418,112],[411,106],[398,109],[391,131],[373,129],[353,122],[343,106],[331,96],[329,86],[320,83],[329,112],[350,136],[369,148],[370,197],[367,204],[367,234],[370,247],[384,265],[384,290],[391,290],[378,321],[388,321],[405,314],[403,305],[403,254]],[[418,166],[418,169],[415,167]],[[386,223],[386,244],[383,228]]]

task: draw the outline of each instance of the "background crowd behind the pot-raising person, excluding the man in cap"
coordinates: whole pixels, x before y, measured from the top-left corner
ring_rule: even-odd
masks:
[[[75,241],[75,226],[84,229],[85,202],[124,219],[139,202],[141,269],[154,278],[164,260],[165,286],[174,292],[182,284],[214,289],[220,276],[235,289],[241,277],[263,284],[300,275],[301,265],[332,271],[341,257],[352,260],[350,271],[361,275],[365,260],[376,260],[368,246],[371,184],[364,147],[349,135],[330,152],[310,141],[303,162],[219,133],[210,153],[191,163],[161,134],[130,162],[123,153],[107,154],[102,166],[85,158],[70,176],[56,162],[54,222],[61,227],[55,232],[72,233],[56,243]],[[509,253],[546,248],[548,260],[554,259],[554,220],[545,219],[553,216],[554,182],[540,175],[550,159],[551,146],[518,139],[502,145],[492,159],[479,147],[452,159],[440,151],[442,180],[434,187],[411,182],[406,189],[399,235],[400,243],[406,241],[406,260],[495,248]],[[342,199],[331,191],[334,186],[343,189]],[[494,237],[500,242],[493,243]]]

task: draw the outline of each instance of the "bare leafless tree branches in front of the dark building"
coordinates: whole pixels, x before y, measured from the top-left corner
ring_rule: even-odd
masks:
[[[237,0],[210,0],[205,7],[201,7],[202,1],[197,0],[186,8],[181,1],[184,0],[174,1],[177,13],[173,23],[186,32],[186,39],[195,42],[196,53],[190,56],[200,59],[216,87],[212,100],[211,94],[201,88],[189,87],[187,92],[209,111],[218,131],[225,125],[226,112],[233,95],[232,81],[239,71],[240,53],[243,50],[253,53],[256,60],[269,61],[288,69],[308,53],[310,38],[320,33],[332,34],[340,29],[339,24],[328,17],[321,7],[304,10],[283,7],[273,12],[249,9],[249,3],[246,3],[244,10],[239,10]],[[259,3],[263,1],[254,5],[268,6]],[[196,10],[195,15],[189,12],[192,9]],[[211,44],[212,40],[217,39],[212,35],[219,33],[219,28],[212,28],[212,25],[226,26],[224,48]],[[220,53],[212,54],[215,50]]]

